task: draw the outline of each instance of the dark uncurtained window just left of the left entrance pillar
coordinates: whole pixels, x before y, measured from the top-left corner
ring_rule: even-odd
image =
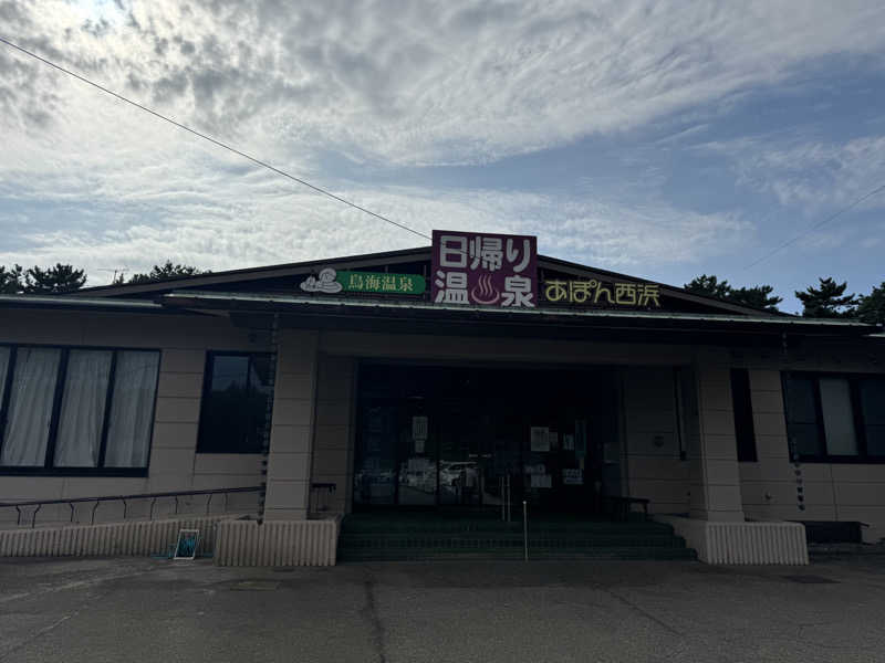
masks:
[[[209,352],[197,452],[260,453],[271,378],[270,355]]]

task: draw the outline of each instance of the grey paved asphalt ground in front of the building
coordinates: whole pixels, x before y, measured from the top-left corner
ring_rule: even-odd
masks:
[[[799,583],[790,575],[833,583]],[[0,661],[883,661],[885,561],[0,560]]]

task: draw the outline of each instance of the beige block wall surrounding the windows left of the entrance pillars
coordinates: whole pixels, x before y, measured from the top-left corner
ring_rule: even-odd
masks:
[[[267,351],[266,338],[250,339],[248,329],[235,328],[225,318],[192,316],[119,316],[48,311],[21,311],[0,329],[0,341],[58,346],[150,348],[160,351],[157,400],[150,442],[148,475],[116,476],[0,476],[0,502],[63,499],[254,486],[261,482],[259,454],[198,454],[202,379],[207,350]],[[179,499],[179,513],[202,513],[207,497]],[[128,504],[127,516],[147,516],[149,501]],[[212,498],[210,511],[225,506]],[[257,513],[257,496],[231,495],[231,512]],[[173,499],[158,501],[154,515],[175,511]],[[0,508],[0,526],[15,522],[15,511]],[[123,504],[103,503],[95,520],[114,522],[123,516]],[[67,523],[67,505],[40,509],[38,524]],[[92,505],[76,506],[74,523],[88,523]]]

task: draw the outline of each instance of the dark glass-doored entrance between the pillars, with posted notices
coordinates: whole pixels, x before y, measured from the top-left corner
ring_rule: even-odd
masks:
[[[611,369],[363,364],[354,508],[597,513],[621,494]],[[509,486],[509,492],[507,490]]]

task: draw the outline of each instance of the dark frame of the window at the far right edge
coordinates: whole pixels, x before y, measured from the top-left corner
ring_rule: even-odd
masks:
[[[794,454],[790,442],[790,412],[787,398],[788,381],[791,377],[799,377],[812,380],[814,389],[814,419],[818,427],[818,438],[820,440],[820,451],[815,454]],[[852,422],[854,424],[854,435],[857,442],[856,455],[830,454],[826,450],[826,430],[823,421],[823,402],[821,399],[821,379],[843,379],[848,382],[848,393],[851,396]],[[811,370],[784,370],[781,371],[781,392],[783,398],[783,419],[787,429],[787,444],[790,460],[802,463],[833,463],[833,464],[854,464],[854,465],[878,465],[885,464],[885,454],[870,455],[866,444],[866,423],[864,421],[863,404],[861,402],[861,380],[878,378],[885,380],[885,375],[878,372],[830,372]]]

